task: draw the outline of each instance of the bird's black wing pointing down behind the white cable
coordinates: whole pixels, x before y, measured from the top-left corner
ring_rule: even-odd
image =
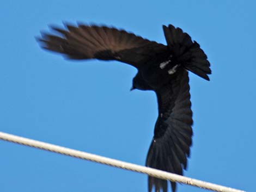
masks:
[[[146,165],[151,168],[182,175],[192,144],[192,110],[188,72],[181,69],[172,81],[156,90],[159,116]],[[167,191],[167,181],[149,177],[149,191]],[[171,182],[175,191],[176,183]]]

